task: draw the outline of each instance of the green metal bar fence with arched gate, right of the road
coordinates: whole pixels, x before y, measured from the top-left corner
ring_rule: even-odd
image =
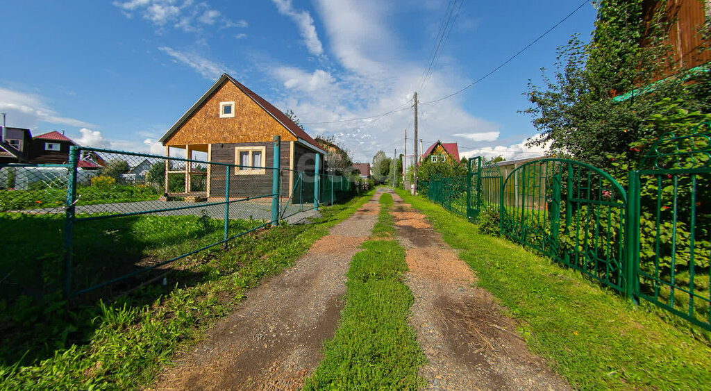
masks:
[[[663,154],[661,152],[661,144],[665,141],[673,141],[679,143],[679,139],[685,140],[689,137],[700,136],[706,140],[705,149],[695,150],[690,147],[686,150],[680,150],[679,144],[676,144],[676,150],[672,153]],[[699,318],[700,314],[697,314],[695,309],[695,302],[697,305],[700,303],[704,308],[711,309],[711,294],[710,296],[701,296],[694,290],[695,286],[695,253],[698,254],[698,250],[694,245],[695,232],[710,232],[711,226],[697,227],[697,205],[699,200],[697,199],[697,181],[698,178],[705,176],[706,178],[711,177],[711,142],[709,142],[710,134],[695,134],[692,136],[675,137],[673,134],[668,135],[666,138],[662,137],[657,144],[652,148],[651,158],[648,160],[654,161],[654,167],[652,169],[646,170],[635,170],[629,172],[629,184],[626,186],[621,186],[621,184],[616,181],[612,176],[604,171],[590,166],[589,164],[584,164],[579,161],[570,161],[566,159],[538,159],[535,161],[530,161],[508,174],[506,178],[501,176],[498,172],[498,168],[494,168],[495,165],[491,163],[483,164],[483,159],[481,156],[476,156],[470,158],[468,161],[468,173],[466,174],[466,183],[463,192],[456,193],[454,191],[445,191],[449,186],[451,181],[459,181],[459,177],[452,178],[436,178],[432,181],[423,181],[421,186],[421,194],[429,198],[435,203],[442,205],[443,208],[450,210],[457,215],[463,215],[472,223],[474,223],[482,211],[486,208],[493,208],[493,210],[498,211],[500,218],[500,232],[501,235],[508,237],[510,240],[518,242],[527,247],[531,247],[533,250],[537,250],[544,255],[557,260],[558,262],[565,264],[567,267],[572,267],[579,270],[580,272],[587,274],[589,277],[596,279],[597,281],[605,284],[606,286],[621,292],[630,299],[637,301],[640,299],[646,300],[659,306],[661,309],[665,309],[672,314],[680,316],[685,320],[693,323],[697,326],[705,328],[711,331],[711,311],[709,314],[704,315],[704,318]],[[702,156],[702,159],[693,159],[694,162],[700,161],[702,167],[689,168],[680,164],[681,161],[686,156]],[[650,156],[648,156],[650,157]],[[662,164],[658,163],[658,159],[661,157],[668,157],[673,159],[673,168],[665,168]],[[552,164],[552,171],[549,171],[549,165]],[[559,168],[556,168],[559,165]],[[565,168],[563,168],[565,166]],[[556,171],[558,170],[558,171]],[[555,174],[555,175],[553,175]],[[530,178],[533,178],[531,181]],[[679,259],[677,250],[673,250],[670,253],[670,258],[672,266],[670,268],[670,276],[663,278],[661,276],[659,263],[659,245],[657,245],[656,253],[656,267],[654,272],[644,272],[641,270],[641,239],[643,234],[641,232],[641,204],[643,199],[643,193],[641,186],[641,180],[645,177],[658,178],[660,186],[658,186],[657,198],[661,198],[661,178],[664,177],[666,180],[673,182],[673,227],[678,225],[678,183],[680,178],[687,178],[687,181],[692,183],[693,188],[690,189],[690,199],[688,200],[690,213],[688,218],[690,221],[687,224],[690,226],[690,244],[688,244],[688,255],[685,257],[690,258],[688,260],[689,270],[688,274],[690,286],[685,286],[680,282],[675,282],[676,272],[674,262],[675,259]],[[527,179],[528,178],[528,179]],[[541,178],[544,181],[541,181]],[[563,179],[565,178],[565,180]],[[690,178],[690,179],[688,179]],[[526,181],[530,182],[527,183]],[[575,183],[577,181],[577,183]],[[597,182],[596,182],[597,181]],[[545,183],[544,183],[545,182]],[[596,182],[596,183],[593,183]],[[516,187],[512,189],[515,185]],[[518,187],[520,186],[520,188]],[[484,189],[490,189],[490,192],[484,191]],[[561,195],[561,189],[567,189],[567,193]],[[577,195],[574,194],[577,191]],[[463,194],[466,193],[466,194]],[[491,196],[493,195],[493,196]],[[466,215],[462,213],[459,204],[454,203],[454,200],[459,200],[463,196],[466,196]],[[508,196],[508,197],[507,197]],[[648,195],[649,196],[649,195]],[[528,208],[533,208],[528,211],[525,203],[527,200],[533,200],[538,202],[535,205],[528,205]],[[687,202],[686,200],[684,202]],[[456,207],[453,208],[452,205]],[[543,206],[542,206],[543,205]],[[660,235],[659,226],[663,223],[663,218],[661,217],[659,208],[661,204],[657,205],[658,212],[656,213],[656,237],[653,240],[656,242],[661,242],[663,239]],[[608,227],[608,230],[616,230],[616,251],[619,255],[614,255],[614,264],[612,266],[608,263],[606,267],[607,271],[609,269],[615,269],[619,267],[619,277],[616,279],[610,279],[608,274],[602,276],[600,273],[602,267],[601,265],[605,262],[599,262],[601,259],[599,257],[594,257],[592,254],[596,253],[597,250],[589,250],[589,243],[587,242],[587,237],[589,232],[584,232],[584,246],[583,243],[577,241],[574,244],[574,248],[583,248],[584,252],[580,252],[584,257],[591,255],[591,259],[594,262],[572,262],[570,258],[570,252],[561,250],[561,242],[558,238],[559,232],[565,233],[570,227],[575,227],[574,229],[580,230],[580,221],[574,221],[572,216],[579,214],[583,208],[587,212],[587,227],[590,226],[591,216],[592,226],[595,228],[594,235],[599,235],[599,215],[601,214],[602,208],[617,208],[619,210],[619,227]],[[679,207],[680,208],[680,207]],[[538,222],[543,221],[543,229],[540,232],[535,232],[535,235],[526,236],[518,235],[514,229],[514,225],[525,225],[526,218],[528,215],[533,213],[533,210],[538,213]],[[591,210],[593,211],[591,213]],[[607,212],[610,216],[610,212]],[[604,213],[602,213],[604,215]],[[541,218],[542,216],[542,218]],[[614,221],[613,218],[608,217],[607,223],[611,225]],[[546,232],[547,230],[547,232]],[[579,236],[579,231],[575,232],[575,236]],[[533,238],[532,238],[533,237]],[[532,242],[533,240],[533,242]],[[604,238],[600,239],[596,237],[595,246],[598,245],[598,241],[602,242]],[[670,235],[668,239],[672,243],[673,249],[680,247],[680,238],[678,237],[676,230]],[[711,239],[707,239],[711,240]],[[545,242],[545,243],[544,243]],[[609,232],[607,237],[606,245],[609,245]],[[539,245],[535,245],[539,243]],[[550,250],[545,250],[545,246]],[[704,250],[707,252],[707,250]],[[580,255],[578,254],[578,255]],[[576,255],[577,256],[577,255]],[[708,255],[711,257],[711,254]],[[610,261],[609,257],[606,259]],[[605,261],[605,259],[602,259]],[[707,269],[707,266],[703,266]],[[707,277],[704,276],[705,284],[711,284],[711,277],[708,277],[710,281],[706,281]],[[647,284],[641,284],[641,281],[645,280]],[[649,293],[651,284],[651,293]],[[670,297],[662,299],[660,297],[660,286],[668,289],[670,291]],[[688,299],[688,304],[675,304],[674,294],[678,292],[678,295],[685,296]],[[682,309],[679,307],[683,306]]]

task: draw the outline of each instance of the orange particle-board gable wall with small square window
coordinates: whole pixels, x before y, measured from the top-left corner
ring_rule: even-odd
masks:
[[[220,102],[232,101],[235,102],[235,117],[220,118]],[[232,82],[225,80],[166,140],[165,145],[184,147],[187,144],[254,143],[271,141],[277,135],[282,136],[282,141],[296,140],[260,105]]]

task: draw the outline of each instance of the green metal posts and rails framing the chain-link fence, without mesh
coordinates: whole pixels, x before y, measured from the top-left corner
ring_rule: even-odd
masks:
[[[80,164],[80,156],[82,156],[82,153],[85,152],[91,152],[94,154],[103,154],[103,155],[108,155],[108,154],[113,154],[113,155],[119,155],[119,156],[134,156],[136,158],[146,158],[146,159],[155,159],[155,161],[166,161],[166,166],[168,165],[167,162],[172,161],[172,162],[178,162],[181,164],[202,164],[205,166],[210,166],[213,170],[216,168],[224,168],[225,172],[227,173],[226,178],[230,178],[230,171],[234,170],[235,168],[240,168],[243,166],[236,165],[236,164],[226,164],[226,163],[219,163],[219,162],[214,162],[214,161],[201,161],[201,160],[196,160],[196,159],[183,159],[183,158],[178,158],[178,157],[167,157],[167,156],[158,156],[158,155],[152,155],[152,154],[141,154],[141,153],[135,153],[135,152],[125,152],[125,151],[114,151],[114,150],[109,150],[109,149],[95,149],[95,148],[88,148],[88,147],[82,147],[82,146],[71,146],[70,152],[69,152],[69,160],[67,164],[50,164],[50,165],[38,165],[38,164],[4,164],[0,165],[0,168],[4,168],[6,166],[13,166],[13,167],[21,167],[21,168],[43,168],[43,167],[52,167],[52,168],[61,168],[63,169],[63,183],[65,186],[65,202],[64,205],[61,205],[63,207],[62,210],[57,210],[53,213],[63,213],[64,215],[64,223],[63,223],[63,233],[62,233],[62,243],[63,243],[63,254],[64,254],[64,265],[63,265],[63,291],[66,297],[74,297],[74,296],[79,296],[82,294],[85,294],[89,291],[93,291],[95,289],[100,289],[104,286],[107,286],[109,284],[114,284],[116,282],[122,281],[124,279],[127,279],[129,277],[135,276],[137,274],[141,274],[144,272],[149,272],[152,269],[156,269],[158,267],[164,266],[165,264],[169,264],[171,262],[175,262],[178,259],[183,259],[185,257],[194,255],[198,252],[201,252],[203,250],[207,250],[211,247],[215,247],[218,245],[224,245],[226,242],[229,242],[230,240],[235,239],[236,237],[240,237],[242,235],[246,235],[247,233],[253,232],[255,230],[259,230],[262,227],[265,227],[267,225],[278,225],[279,221],[282,219],[289,218],[292,215],[295,215],[296,213],[301,213],[306,210],[318,210],[319,205],[325,205],[330,203],[333,205],[333,203],[340,202],[342,200],[346,200],[347,198],[350,198],[354,193],[355,186],[353,186],[353,183],[348,178],[344,178],[341,176],[333,176],[333,175],[326,175],[326,174],[320,174],[320,173],[308,173],[304,171],[296,171],[296,170],[289,170],[288,168],[281,168],[279,167],[279,160],[280,159],[273,159],[274,165],[272,167],[257,167],[260,169],[263,169],[265,171],[271,171],[272,172],[272,186],[271,186],[271,191],[264,192],[264,194],[259,193],[255,194],[254,196],[249,196],[249,197],[244,197],[244,198],[239,198],[239,199],[234,199],[234,196],[230,197],[230,180],[225,180],[224,187],[225,187],[225,195],[224,199],[218,199],[218,200],[206,200],[205,202],[200,202],[200,203],[194,203],[192,205],[180,205],[180,206],[170,206],[166,205],[168,207],[166,208],[157,208],[157,209],[151,209],[151,210],[134,210],[134,211],[121,211],[121,210],[116,210],[118,213],[114,213],[114,210],[112,210],[111,213],[98,213],[98,214],[90,214],[90,215],[77,215],[77,201],[80,199],[77,197],[77,177],[78,177],[78,167]],[[273,156],[280,156],[280,138],[279,136],[274,137],[274,155]],[[252,168],[252,167],[250,167]],[[167,172],[166,170],[166,177],[167,177]],[[288,191],[288,197],[287,195],[283,194],[284,193],[284,178],[287,177],[288,175],[294,175],[294,183],[291,189]],[[306,181],[310,181],[313,183],[306,183]],[[166,186],[167,185],[167,180],[166,180]],[[288,186],[288,185],[287,185]],[[64,188],[64,187],[63,187]],[[299,191],[299,199],[297,200],[294,195],[296,194],[296,190]],[[63,190],[61,190],[63,191]],[[167,192],[166,188],[166,192]],[[310,191],[310,195],[304,195],[304,191]],[[284,199],[282,199],[282,195],[284,195]],[[264,220],[261,221],[260,225],[257,225],[255,227],[251,227],[250,229],[245,229],[240,232],[232,232],[230,234],[228,230],[228,225],[230,225],[230,205],[234,205],[236,203],[242,203],[245,201],[252,201],[255,199],[269,199],[271,198],[271,216],[270,218],[265,218]],[[319,202],[323,200],[323,202]],[[282,203],[284,205],[282,205]],[[151,205],[149,205],[151,206]],[[75,226],[77,224],[82,224],[88,221],[93,221],[93,220],[105,220],[105,219],[111,219],[111,218],[121,218],[121,217],[128,217],[128,216],[134,216],[134,215],[149,215],[153,213],[169,213],[169,212],[180,212],[181,210],[191,210],[191,208],[205,208],[205,207],[213,207],[213,208],[218,208],[218,207],[223,207],[225,209],[225,214],[224,214],[224,234],[221,237],[221,240],[217,240],[214,243],[211,243],[209,245],[204,245],[200,248],[193,249],[191,251],[188,251],[184,254],[178,255],[176,257],[171,257],[170,259],[165,259],[162,260],[159,263],[156,264],[151,264],[148,267],[143,267],[141,269],[134,270],[133,272],[124,274],[120,277],[112,278],[112,279],[107,279],[106,281],[100,282],[98,284],[94,284],[92,286],[88,286],[85,289],[73,289],[73,254],[74,254],[74,239],[75,239]],[[118,208],[118,207],[117,207]],[[20,211],[21,212],[21,211]],[[31,212],[29,212],[31,213]],[[93,212],[90,212],[93,213]],[[265,215],[266,217],[267,215]],[[250,216],[251,218],[251,216]]]

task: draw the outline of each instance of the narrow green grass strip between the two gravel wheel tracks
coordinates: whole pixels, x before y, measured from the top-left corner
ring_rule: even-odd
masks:
[[[394,234],[387,213],[392,196],[381,195],[380,203],[379,232]],[[324,360],[307,380],[306,390],[416,389],[423,385],[417,369],[424,355],[407,323],[413,297],[402,282],[402,273],[407,271],[405,250],[396,240],[369,240],[362,247],[348,269],[339,328],[325,344]]]

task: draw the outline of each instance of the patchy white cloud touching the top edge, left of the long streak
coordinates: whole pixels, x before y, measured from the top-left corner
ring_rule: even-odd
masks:
[[[247,27],[246,21],[231,21],[205,1],[131,0],[114,1],[113,4],[121,9],[127,18],[139,14],[153,23],[159,33],[170,26],[190,33],[201,31],[203,26],[213,26],[216,23],[220,23],[221,28]]]

